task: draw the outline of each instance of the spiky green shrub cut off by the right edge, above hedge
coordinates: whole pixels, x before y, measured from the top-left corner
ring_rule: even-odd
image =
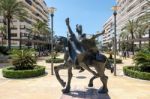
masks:
[[[136,65],[136,69],[143,72],[150,72],[150,51],[147,49],[139,51],[133,60]]]

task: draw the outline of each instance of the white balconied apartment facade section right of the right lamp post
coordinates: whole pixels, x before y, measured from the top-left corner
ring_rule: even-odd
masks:
[[[117,33],[118,35],[124,29],[128,20],[135,20],[141,16],[145,10],[148,10],[146,0],[117,0]]]

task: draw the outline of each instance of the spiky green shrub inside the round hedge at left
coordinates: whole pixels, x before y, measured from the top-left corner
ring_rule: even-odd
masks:
[[[33,69],[36,63],[36,58],[33,56],[33,51],[29,49],[12,50],[12,64],[16,70]]]

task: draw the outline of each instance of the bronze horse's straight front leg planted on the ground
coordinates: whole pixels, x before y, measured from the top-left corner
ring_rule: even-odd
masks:
[[[68,82],[66,85],[66,88],[62,90],[63,93],[69,93],[70,92],[70,84],[71,84],[71,78],[72,78],[73,74],[72,74],[72,67],[70,66],[68,68]]]

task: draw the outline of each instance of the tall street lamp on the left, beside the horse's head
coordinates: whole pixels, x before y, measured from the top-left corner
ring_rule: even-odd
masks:
[[[53,17],[54,17],[54,12],[56,11],[56,8],[50,7],[48,9],[48,12],[50,13],[51,16],[51,75],[53,75]]]

